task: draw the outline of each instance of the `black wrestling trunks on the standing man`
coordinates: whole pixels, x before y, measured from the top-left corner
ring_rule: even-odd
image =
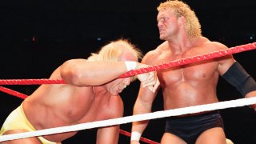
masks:
[[[203,131],[214,127],[224,129],[218,110],[187,117],[170,117],[166,121],[166,132],[182,138],[188,144],[194,144]]]

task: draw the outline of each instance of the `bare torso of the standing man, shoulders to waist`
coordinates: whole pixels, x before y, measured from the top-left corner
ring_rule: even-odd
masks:
[[[210,53],[217,50],[217,46],[219,50],[226,48],[218,43],[210,42],[206,38],[201,38],[198,41],[201,42],[185,50],[185,52],[178,54],[169,50],[168,43],[164,42],[156,50],[150,51],[143,59],[143,62],[155,65],[180,58],[190,58],[198,54]],[[154,59],[154,61],[151,59]],[[227,56],[226,58],[207,60],[186,66],[177,66],[169,70],[159,70],[158,78],[161,82],[164,96],[164,108],[169,110],[218,102],[215,93],[218,75],[226,71],[224,66],[229,67],[233,62],[234,59],[231,56]]]

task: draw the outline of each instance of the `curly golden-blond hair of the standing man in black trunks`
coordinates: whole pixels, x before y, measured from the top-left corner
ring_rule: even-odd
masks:
[[[161,10],[173,10],[177,18],[183,16],[186,19],[185,30],[190,39],[202,36],[201,25],[198,18],[196,14],[194,14],[194,11],[190,9],[190,6],[188,6],[185,2],[168,0],[166,2],[161,2],[157,10],[158,12]]]

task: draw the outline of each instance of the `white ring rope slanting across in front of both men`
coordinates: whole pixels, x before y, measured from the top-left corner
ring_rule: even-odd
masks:
[[[170,116],[178,116],[182,114],[194,114],[194,113],[208,111],[208,110],[220,110],[220,109],[226,109],[230,107],[248,106],[254,103],[256,103],[256,97],[239,98],[237,100],[216,102],[216,103],[210,103],[210,104],[200,105],[200,106],[189,106],[189,107],[183,107],[183,108],[178,108],[173,110],[162,110],[162,111],[156,111],[148,114],[137,114],[137,115],[108,119],[103,121],[86,122],[86,123],[77,124],[73,126],[62,126],[62,127],[45,129],[45,130],[35,130],[35,131],[30,131],[25,133],[2,135],[0,136],[0,142],[20,139],[20,138],[37,137],[37,136],[48,135],[48,134],[58,134],[58,133],[64,133],[64,132],[70,132],[70,131],[86,130],[86,129],[103,127],[103,126],[120,125],[128,122],[138,122],[138,121],[150,120],[154,118],[165,118]]]

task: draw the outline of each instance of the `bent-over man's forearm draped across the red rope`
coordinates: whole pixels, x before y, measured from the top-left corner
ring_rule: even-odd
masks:
[[[126,73],[125,62],[71,60],[61,67],[62,79],[76,86],[98,86]]]

